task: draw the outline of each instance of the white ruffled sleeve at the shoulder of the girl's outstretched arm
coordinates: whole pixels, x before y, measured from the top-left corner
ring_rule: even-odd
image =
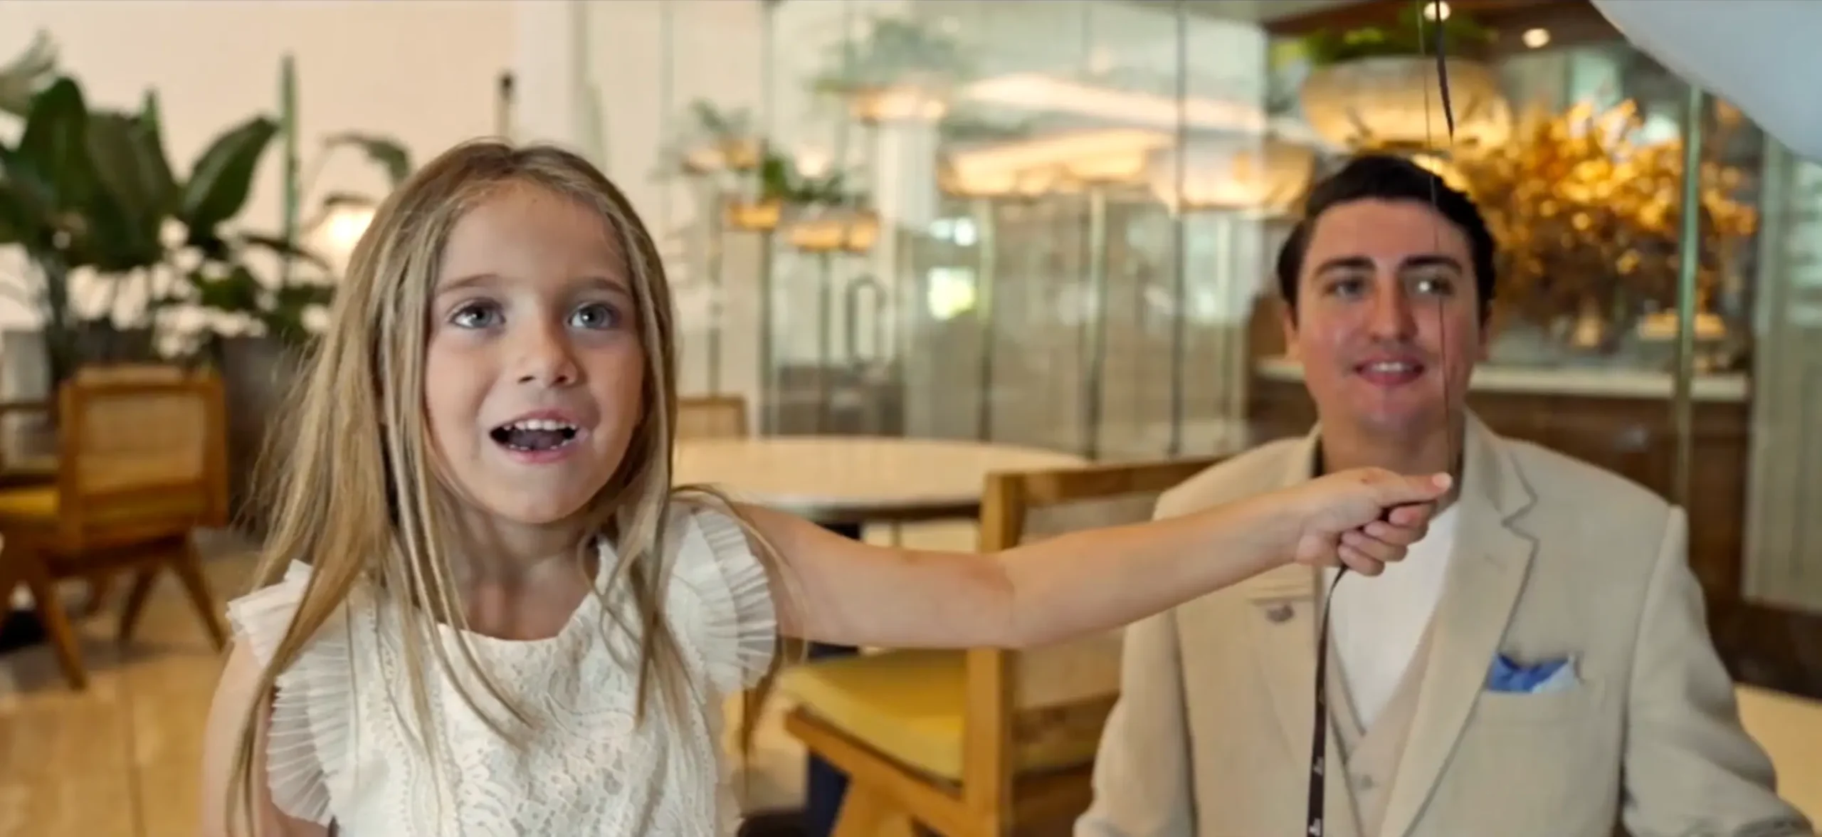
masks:
[[[760,682],[778,649],[778,613],[765,567],[747,532],[725,512],[681,514],[672,569],[674,602],[689,613],[680,622],[703,656],[709,682],[734,693]]]

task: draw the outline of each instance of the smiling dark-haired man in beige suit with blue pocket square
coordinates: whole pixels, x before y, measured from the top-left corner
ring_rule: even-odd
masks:
[[[1813,835],[1740,728],[1684,511],[1465,410],[1494,290],[1474,204],[1363,157],[1306,212],[1277,274],[1317,427],[1192,478],[1157,514],[1357,465],[1459,472],[1405,562],[1336,587],[1321,837]],[[1077,837],[1310,832],[1332,580],[1285,569],[1126,631]]]

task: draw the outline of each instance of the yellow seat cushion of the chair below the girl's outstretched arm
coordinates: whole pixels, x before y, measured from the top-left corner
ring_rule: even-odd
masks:
[[[887,759],[960,782],[966,658],[964,651],[885,651],[814,660],[783,669],[778,691]],[[1095,759],[1099,729],[1055,733],[1015,735],[1015,770],[1040,773]]]

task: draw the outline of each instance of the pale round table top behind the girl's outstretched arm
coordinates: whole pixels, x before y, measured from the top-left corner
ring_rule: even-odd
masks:
[[[980,511],[986,476],[1086,465],[1075,454],[1017,445],[889,436],[680,439],[674,481],[818,523],[964,518]]]

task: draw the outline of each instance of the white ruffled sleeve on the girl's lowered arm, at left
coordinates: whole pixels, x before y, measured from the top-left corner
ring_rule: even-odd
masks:
[[[228,602],[235,640],[244,642],[261,666],[271,664],[308,584],[310,567],[292,563],[279,584]],[[335,819],[330,777],[337,775],[346,753],[350,684],[343,609],[322,624],[299,658],[275,678],[266,733],[266,782],[271,802],[290,817],[319,826]]]

